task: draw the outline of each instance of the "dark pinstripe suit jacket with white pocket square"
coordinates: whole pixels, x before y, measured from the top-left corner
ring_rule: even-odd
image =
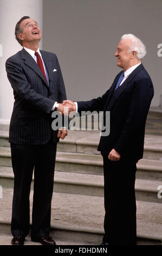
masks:
[[[49,86],[42,71],[22,49],[6,62],[7,76],[14,90],[9,142],[16,144],[45,144],[57,131],[51,129],[51,109],[55,101],[66,99],[62,73],[54,53],[41,51],[49,75]],[[53,70],[56,69],[56,72]]]

